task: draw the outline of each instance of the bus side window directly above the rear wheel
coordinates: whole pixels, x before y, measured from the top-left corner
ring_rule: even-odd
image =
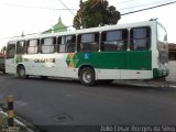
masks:
[[[97,52],[99,44],[99,33],[88,33],[78,35],[78,52]]]

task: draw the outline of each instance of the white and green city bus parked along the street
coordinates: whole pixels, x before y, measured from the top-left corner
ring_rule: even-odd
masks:
[[[168,75],[167,33],[157,21],[107,25],[10,40],[6,73],[97,80],[155,79]]]

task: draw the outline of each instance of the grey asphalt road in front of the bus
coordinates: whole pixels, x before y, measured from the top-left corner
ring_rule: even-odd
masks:
[[[0,102],[14,96],[15,113],[38,127],[176,124],[176,89],[19,79],[0,74]]]

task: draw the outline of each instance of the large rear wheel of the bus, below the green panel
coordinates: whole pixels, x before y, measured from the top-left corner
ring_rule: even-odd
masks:
[[[79,80],[85,86],[94,86],[96,84],[95,70],[90,67],[80,70]]]

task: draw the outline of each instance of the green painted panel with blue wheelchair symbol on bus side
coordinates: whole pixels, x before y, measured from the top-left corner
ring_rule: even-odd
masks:
[[[76,53],[76,68],[91,65],[94,68],[105,69],[143,69],[152,70],[151,51],[125,51],[101,53]]]

